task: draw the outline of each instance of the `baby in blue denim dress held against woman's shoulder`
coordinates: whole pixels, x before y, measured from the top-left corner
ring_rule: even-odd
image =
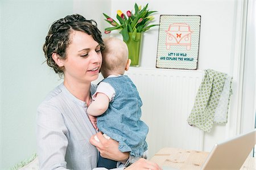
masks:
[[[97,128],[105,137],[118,141],[121,152],[130,152],[129,162],[134,163],[144,158],[147,150],[148,126],[140,119],[141,97],[131,79],[123,75],[131,63],[125,42],[110,37],[104,39],[104,44],[101,67],[104,79],[98,84],[87,113],[97,116]]]

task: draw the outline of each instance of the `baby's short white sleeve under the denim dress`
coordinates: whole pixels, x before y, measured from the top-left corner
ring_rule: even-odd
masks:
[[[109,97],[109,101],[112,101],[115,96],[114,88],[109,83],[106,83],[106,82],[101,82],[100,84],[98,84],[97,90],[92,96],[93,100],[96,98],[97,93],[105,94],[106,96]]]

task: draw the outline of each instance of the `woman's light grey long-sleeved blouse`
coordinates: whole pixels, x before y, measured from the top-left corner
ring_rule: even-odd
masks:
[[[96,91],[94,84],[90,91]],[[98,151],[89,143],[96,130],[86,109],[86,103],[73,96],[63,83],[39,105],[36,138],[40,169],[96,167]]]

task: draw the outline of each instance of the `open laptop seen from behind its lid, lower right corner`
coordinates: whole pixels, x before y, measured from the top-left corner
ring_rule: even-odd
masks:
[[[240,169],[256,144],[256,130],[216,144],[201,170]]]

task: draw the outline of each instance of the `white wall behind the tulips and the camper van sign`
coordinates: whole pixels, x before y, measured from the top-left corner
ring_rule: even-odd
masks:
[[[160,15],[201,15],[198,69],[230,72],[234,1],[113,1],[111,16],[133,10],[135,2],[158,11],[154,24]],[[153,27],[144,33],[141,67],[155,68],[157,45],[158,27]]]

